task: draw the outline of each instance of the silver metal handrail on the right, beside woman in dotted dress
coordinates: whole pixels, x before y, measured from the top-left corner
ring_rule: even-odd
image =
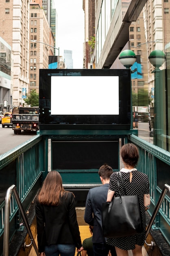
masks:
[[[157,213],[158,213],[158,211],[159,211],[159,208],[160,208],[160,206],[161,206],[161,204],[162,204],[162,202],[163,202],[163,199],[164,199],[164,197],[165,197],[165,195],[166,195],[166,193],[167,193],[168,190],[169,190],[169,192],[170,192],[170,186],[169,186],[168,184],[165,184],[164,187],[163,187],[163,190],[162,190],[162,192],[161,192],[161,195],[160,195],[160,197],[159,197],[159,200],[158,200],[158,202],[157,202],[157,205],[156,205],[156,207],[155,207],[155,209],[154,209],[154,211],[153,211],[153,214],[152,214],[152,216],[151,216],[151,218],[150,218],[148,227],[147,227],[147,229],[146,229],[145,243],[146,243],[146,238],[147,238],[147,236],[148,236],[148,234],[149,234],[149,232],[150,232],[150,229],[151,229],[151,227],[152,227],[152,225],[153,225],[153,222],[154,222],[154,220],[155,220],[155,217],[157,216]],[[152,246],[152,247],[153,247],[153,241],[151,241],[151,244],[147,244],[147,243],[146,243],[146,245],[149,245],[149,246]]]

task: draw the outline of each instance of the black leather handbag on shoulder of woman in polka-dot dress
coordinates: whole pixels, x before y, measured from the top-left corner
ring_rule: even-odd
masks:
[[[143,231],[142,217],[137,195],[126,195],[124,182],[120,172],[118,175],[118,189],[120,193],[119,176],[124,188],[124,194],[113,197],[111,202],[102,204],[102,229],[107,238],[133,236]]]

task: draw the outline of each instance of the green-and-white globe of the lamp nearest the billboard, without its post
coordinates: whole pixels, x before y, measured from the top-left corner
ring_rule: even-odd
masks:
[[[119,60],[126,69],[129,69],[135,63],[136,55],[131,50],[124,50],[120,53]]]

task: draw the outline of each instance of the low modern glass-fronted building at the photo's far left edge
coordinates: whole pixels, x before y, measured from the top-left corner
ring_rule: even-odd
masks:
[[[12,108],[11,46],[0,37],[0,111]],[[4,101],[7,104],[4,106]]]

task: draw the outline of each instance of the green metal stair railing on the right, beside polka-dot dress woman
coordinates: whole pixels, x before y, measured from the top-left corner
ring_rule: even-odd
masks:
[[[150,182],[150,216],[153,215],[155,207],[161,196],[166,183],[169,183],[170,173],[170,153],[162,148],[150,144],[144,139],[135,135],[129,136],[129,141],[133,142],[139,149],[139,164],[137,169],[146,173]],[[161,174],[160,174],[161,173]],[[169,183],[170,185],[170,183]],[[156,215],[152,229],[159,229],[170,245],[170,197],[165,195],[159,211]]]

